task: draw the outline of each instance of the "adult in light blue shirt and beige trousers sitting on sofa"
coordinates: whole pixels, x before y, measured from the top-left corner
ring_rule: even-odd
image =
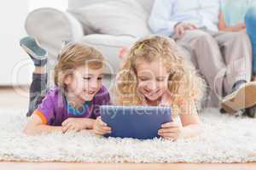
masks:
[[[224,111],[234,113],[256,103],[252,48],[244,31],[218,31],[218,12],[218,0],[156,0],[149,26],[194,55]]]

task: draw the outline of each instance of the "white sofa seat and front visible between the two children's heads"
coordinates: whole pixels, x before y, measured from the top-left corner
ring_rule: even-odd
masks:
[[[114,75],[119,71],[119,65],[122,63],[121,59],[119,59],[120,49],[130,47],[137,39],[125,36],[91,34],[83,37],[80,41],[86,42],[101,51],[107,60],[107,67],[104,73]]]

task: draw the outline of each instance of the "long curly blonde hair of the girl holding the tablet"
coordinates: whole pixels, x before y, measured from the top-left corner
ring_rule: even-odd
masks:
[[[176,43],[168,37],[150,36],[135,42],[125,57],[125,63],[116,77],[114,91],[118,105],[141,105],[142,95],[137,90],[138,59],[148,63],[161,59],[170,74],[168,90],[172,104],[180,99],[199,102],[204,94],[205,83],[196,75],[195,69],[177,52]]]

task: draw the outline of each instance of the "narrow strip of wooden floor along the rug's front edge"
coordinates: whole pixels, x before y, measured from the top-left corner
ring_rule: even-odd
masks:
[[[0,162],[1,170],[255,170],[247,164],[95,164],[95,163],[27,163]]]

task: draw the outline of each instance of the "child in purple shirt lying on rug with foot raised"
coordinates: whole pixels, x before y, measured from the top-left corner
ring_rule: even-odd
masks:
[[[92,129],[99,105],[110,101],[107,88],[102,86],[102,54],[85,44],[68,43],[55,65],[55,88],[47,89],[47,52],[32,37],[23,38],[20,45],[35,65],[27,113],[31,117],[24,132],[35,135]]]

